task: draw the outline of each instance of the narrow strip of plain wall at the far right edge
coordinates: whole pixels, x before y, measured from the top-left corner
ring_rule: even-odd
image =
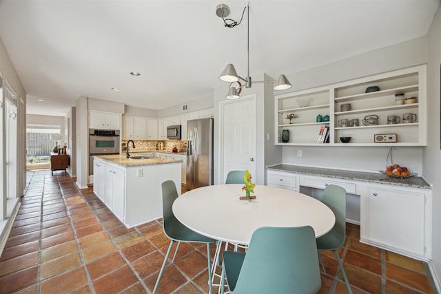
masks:
[[[433,182],[433,264],[441,277],[441,151],[440,151],[440,79],[441,79],[441,7],[427,35],[427,117],[428,145],[422,153],[423,174]],[[440,291],[440,289],[438,289]]]

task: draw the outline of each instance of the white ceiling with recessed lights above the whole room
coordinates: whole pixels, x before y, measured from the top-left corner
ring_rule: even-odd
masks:
[[[246,12],[225,28],[220,3],[238,21],[247,2],[0,0],[0,38],[28,114],[64,116],[79,96],[163,109],[211,97],[227,63],[246,76]],[[424,36],[439,3],[249,1],[250,74],[291,74]]]

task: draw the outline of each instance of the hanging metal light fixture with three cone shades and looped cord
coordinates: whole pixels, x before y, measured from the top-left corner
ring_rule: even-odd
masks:
[[[247,77],[243,78],[242,76],[239,76],[234,68],[234,65],[231,63],[225,67],[225,70],[223,70],[222,74],[220,74],[219,79],[220,81],[230,83],[228,94],[226,96],[227,99],[240,98],[240,91],[242,88],[244,86],[247,88],[252,86],[252,79],[251,76],[249,76],[249,5],[247,3],[247,6],[245,6],[243,9],[242,18],[239,22],[233,21],[232,19],[225,19],[225,17],[228,17],[230,11],[226,4],[219,4],[216,6],[216,15],[223,19],[224,25],[227,28],[234,28],[236,25],[239,25],[242,22],[245,9],[247,10]],[[240,80],[244,81],[245,83],[242,85]],[[274,85],[274,90],[287,90],[291,87],[291,83],[289,83],[285,74],[280,74],[277,81],[254,81],[253,83],[275,83],[276,85]]]

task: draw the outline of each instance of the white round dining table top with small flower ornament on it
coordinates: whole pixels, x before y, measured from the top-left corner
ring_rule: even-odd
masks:
[[[256,185],[254,200],[243,185],[213,185],[183,193],[173,203],[176,218],[193,231],[210,238],[249,244],[259,227],[311,226],[316,238],[331,231],[334,213],[319,200],[295,191]]]

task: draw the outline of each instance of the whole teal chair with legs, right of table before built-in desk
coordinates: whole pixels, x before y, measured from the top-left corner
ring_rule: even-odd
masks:
[[[343,279],[345,279],[347,289],[349,293],[352,294],[345,268],[343,268],[342,261],[337,252],[337,249],[339,249],[345,242],[346,236],[346,190],[340,186],[327,185],[325,191],[323,191],[322,202],[334,212],[334,215],[336,216],[336,224],[334,224],[331,231],[317,238],[317,249],[318,251],[331,251],[336,255],[336,260],[338,266],[340,266]],[[318,253],[318,258],[322,265],[323,272],[326,273],[320,252]]]

